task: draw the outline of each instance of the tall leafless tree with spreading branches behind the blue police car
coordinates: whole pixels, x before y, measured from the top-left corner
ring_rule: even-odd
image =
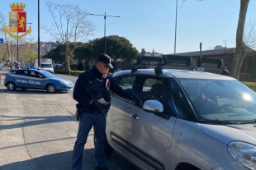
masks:
[[[43,25],[43,29],[53,38],[66,45],[64,55],[66,70],[70,73],[69,61],[74,56],[74,49],[79,43],[86,41],[95,30],[95,26],[87,19],[88,12],[81,10],[78,5],[55,4],[46,1],[46,5],[53,18],[51,26]]]

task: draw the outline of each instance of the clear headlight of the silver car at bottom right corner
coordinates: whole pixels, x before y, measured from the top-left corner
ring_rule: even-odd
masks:
[[[230,155],[244,167],[256,170],[256,146],[234,141],[227,146]]]

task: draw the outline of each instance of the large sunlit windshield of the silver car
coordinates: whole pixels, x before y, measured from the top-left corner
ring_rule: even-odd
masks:
[[[256,94],[238,80],[179,79],[200,122],[256,119]]]

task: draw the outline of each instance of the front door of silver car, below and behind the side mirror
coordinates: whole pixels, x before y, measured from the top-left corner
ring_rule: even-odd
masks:
[[[140,93],[141,103],[130,110],[131,130],[128,137],[133,159],[140,161],[147,169],[168,169],[172,136],[176,117],[173,117],[168,106],[164,81],[158,76],[141,76]],[[142,109],[143,103],[155,99],[151,88],[159,84],[164,94],[159,100],[164,105],[164,114],[156,115]],[[159,89],[160,90],[160,89]]]

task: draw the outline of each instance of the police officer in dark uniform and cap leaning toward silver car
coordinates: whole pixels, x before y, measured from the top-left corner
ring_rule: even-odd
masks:
[[[78,136],[73,146],[73,170],[82,169],[83,148],[88,139],[88,133],[94,126],[94,134],[97,140],[95,147],[96,168],[107,170],[105,166],[106,155],[104,153],[106,140],[106,114],[110,108],[111,97],[109,89],[126,99],[138,99],[137,95],[130,91],[122,90],[116,80],[108,74],[111,65],[111,57],[102,53],[90,71],[83,72],[76,81],[73,89],[73,99],[78,101],[82,108],[79,119]]]

